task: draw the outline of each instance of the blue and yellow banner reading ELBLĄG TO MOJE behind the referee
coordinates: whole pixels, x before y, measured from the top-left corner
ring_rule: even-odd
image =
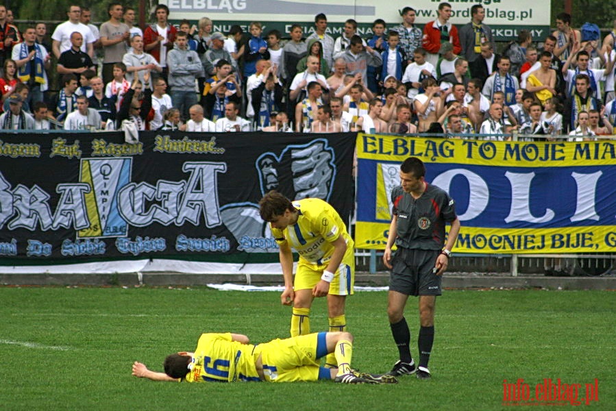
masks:
[[[498,142],[359,134],[358,249],[384,249],[408,157],[456,201],[456,253],[594,253],[616,247],[616,141]]]

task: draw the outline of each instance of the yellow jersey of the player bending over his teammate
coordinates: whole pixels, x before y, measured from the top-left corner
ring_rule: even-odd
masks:
[[[271,233],[278,245],[288,244],[299,253],[300,262],[325,264],[334,253],[332,242],[343,236],[347,249],[353,249],[354,242],[340,215],[330,204],[321,199],[292,201],[299,212],[297,223],[284,230],[271,227]]]

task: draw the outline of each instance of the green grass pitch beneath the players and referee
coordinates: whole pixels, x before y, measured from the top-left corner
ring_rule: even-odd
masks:
[[[0,288],[1,410],[500,410],[503,381],[598,380],[616,409],[616,294],[611,291],[446,290],[436,303],[430,381],[174,384],[130,375],[134,360],[162,370],[168,353],[195,348],[201,332],[251,341],[288,336],[291,309],[277,292],[208,288]],[[406,318],[417,355],[417,299]],[[315,301],[313,331],[327,325]],[[389,371],[397,359],[386,292],[347,300],[353,365]],[[585,395],[584,388],[580,397]]]

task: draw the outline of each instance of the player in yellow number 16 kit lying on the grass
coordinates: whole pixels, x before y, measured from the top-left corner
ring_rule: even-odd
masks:
[[[319,365],[334,353],[337,369]],[[395,383],[391,375],[358,373],[351,368],[353,336],[348,332],[320,332],[251,345],[241,334],[201,334],[194,353],[165,358],[164,373],[134,362],[132,375],[153,381],[175,382],[293,382],[333,379],[345,384]]]

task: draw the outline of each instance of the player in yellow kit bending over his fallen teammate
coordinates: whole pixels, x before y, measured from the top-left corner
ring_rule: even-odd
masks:
[[[354,242],[336,210],[320,199],[292,202],[270,191],[259,201],[259,212],[280,247],[280,299],[286,306],[293,303],[291,336],[310,334],[312,300],[325,296],[330,332],[345,331],[345,298],[353,294],[355,282]],[[295,283],[291,248],[299,253]],[[325,359],[330,367],[335,361],[333,355]]]

